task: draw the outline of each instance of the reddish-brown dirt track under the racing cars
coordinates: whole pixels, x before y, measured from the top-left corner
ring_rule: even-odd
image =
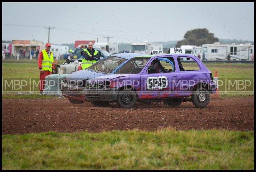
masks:
[[[40,105],[40,106],[39,106]],[[144,105],[135,108],[96,107],[90,102],[72,104],[66,98],[2,100],[2,134],[55,132],[101,132],[172,127],[188,129],[254,130],[254,98],[211,99],[199,109],[192,102],[177,108]]]

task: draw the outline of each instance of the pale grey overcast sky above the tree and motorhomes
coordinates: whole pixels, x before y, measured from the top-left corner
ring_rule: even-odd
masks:
[[[55,44],[177,41],[195,28],[254,41],[254,3],[2,3],[2,40],[46,43],[49,26]]]

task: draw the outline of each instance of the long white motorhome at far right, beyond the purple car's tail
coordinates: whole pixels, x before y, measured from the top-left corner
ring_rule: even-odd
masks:
[[[203,44],[200,56],[205,55],[206,60],[227,60],[228,54],[230,60],[251,61],[254,54],[254,45],[252,43],[239,44]]]

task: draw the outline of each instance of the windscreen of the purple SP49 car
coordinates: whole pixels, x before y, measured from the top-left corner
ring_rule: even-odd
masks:
[[[127,61],[124,66],[116,71],[116,74],[139,74],[148,63],[149,57],[135,57]]]

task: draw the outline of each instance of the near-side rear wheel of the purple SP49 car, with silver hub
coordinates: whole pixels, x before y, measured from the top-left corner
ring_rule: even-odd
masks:
[[[204,108],[210,101],[210,93],[207,89],[200,88],[193,91],[191,100],[196,107]]]

